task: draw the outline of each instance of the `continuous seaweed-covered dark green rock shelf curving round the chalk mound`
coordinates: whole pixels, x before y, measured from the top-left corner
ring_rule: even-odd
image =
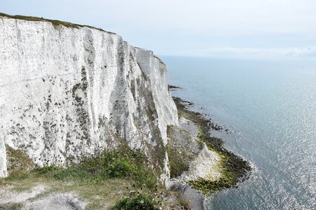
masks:
[[[174,98],[176,106],[178,108],[178,115],[191,120],[199,128],[199,134],[197,137],[203,141],[209,150],[214,151],[220,157],[219,168],[221,169],[221,177],[218,180],[211,181],[206,179],[197,179],[188,181],[187,184],[197,190],[201,190],[204,195],[210,195],[223,188],[230,188],[236,186],[241,179],[247,179],[251,167],[249,162],[246,162],[239,156],[231,153],[223,148],[223,140],[216,137],[211,137],[209,130],[211,130],[211,120],[208,120],[202,116],[201,113],[190,111],[187,109],[185,102],[180,98]]]

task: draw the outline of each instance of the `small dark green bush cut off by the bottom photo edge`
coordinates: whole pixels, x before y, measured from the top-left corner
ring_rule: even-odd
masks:
[[[157,204],[152,197],[147,195],[138,195],[126,197],[115,204],[112,210],[154,210],[157,209]]]

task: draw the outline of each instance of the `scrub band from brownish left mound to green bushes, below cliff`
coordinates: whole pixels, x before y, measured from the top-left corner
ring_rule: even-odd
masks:
[[[67,168],[57,165],[36,167],[32,160],[22,153],[7,146],[9,181],[28,179],[38,176],[57,181],[77,181],[100,183],[107,179],[129,179],[137,186],[145,185],[154,189],[157,176],[147,165],[147,157],[128,146],[121,146],[117,151],[103,151],[93,157],[84,157],[77,164]],[[3,181],[3,179],[1,179]]]

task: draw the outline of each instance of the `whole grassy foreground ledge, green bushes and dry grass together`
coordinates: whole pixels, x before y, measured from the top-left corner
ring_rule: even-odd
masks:
[[[35,186],[46,186],[48,194],[75,191],[88,201],[86,209],[112,206],[116,200],[129,196],[132,191],[148,197],[165,192],[157,181],[157,175],[147,165],[145,155],[140,151],[131,151],[127,146],[83,158],[67,168],[56,165],[34,168],[32,164],[29,172],[18,165],[19,162],[24,166],[32,163],[24,153],[9,147],[7,151],[11,160],[10,176],[0,179],[0,188],[8,186],[15,192],[29,191]],[[6,204],[5,209],[20,209],[21,205]]]

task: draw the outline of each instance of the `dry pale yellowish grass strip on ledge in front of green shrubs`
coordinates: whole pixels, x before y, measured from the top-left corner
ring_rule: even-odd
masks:
[[[138,190],[133,180],[130,179],[107,179],[98,183],[78,180],[60,181],[46,178],[39,174],[29,173],[26,179],[1,180],[1,189],[17,194],[32,192],[38,186],[45,186],[46,188],[40,194],[43,197],[55,193],[76,193],[82,200],[88,202],[86,209],[104,209],[105,206],[111,207],[121,197],[128,196],[131,190]],[[150,192],[150,190],[145,188],[144,193],[147,192]],[[41,197],[34,197],[33,200],[38,199],[41,199]],[[11,206],[16,205],[14,203],[11,204]]]

